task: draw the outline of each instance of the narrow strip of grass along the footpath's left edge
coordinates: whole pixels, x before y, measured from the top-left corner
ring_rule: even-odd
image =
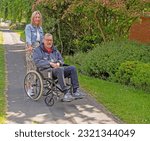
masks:
[[[0,124],[5,123],[6,97],[5,97],[5,57],[2,45],[2,33],[0,32]]]

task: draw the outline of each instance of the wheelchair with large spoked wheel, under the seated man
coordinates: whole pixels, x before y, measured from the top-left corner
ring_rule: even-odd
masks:
[[[72,93],[72,85],[70,78],[65,78],[66,85]],[[32,88],[32,95],[28,92]],[[58,100],[63,97],[62,90],[58,84],[57,78],[52,76],[52,71],[49,69],[30,70],[24,78],[24,90],[26,95],[34,100],[39,100],[42,96],[47,106],[53,106]]]

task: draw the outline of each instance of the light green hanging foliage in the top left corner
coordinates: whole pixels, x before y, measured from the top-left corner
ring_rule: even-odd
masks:
[[[13,23],[22,20],[29,22],[33,3],[33,0],[1,0],[0,17],[9,19]]]

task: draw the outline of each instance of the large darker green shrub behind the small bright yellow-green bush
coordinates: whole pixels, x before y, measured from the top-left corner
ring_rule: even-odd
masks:
[[[149,46],[127,40],[111,41],[97,46],[87,54],[78,54],[73,60],[86,75],[114,79],[119,66],[126,61],[150,62]],[[79,58],[79,59],[77,59]]]

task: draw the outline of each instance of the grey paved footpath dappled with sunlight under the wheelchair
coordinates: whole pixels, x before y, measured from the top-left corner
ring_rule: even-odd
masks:
[[[3,30],[4,47],[7,64],[7,123],[120,123],[102,105],[90,96],[65,103],[58,101],[53,107],[46,106],[44,99],[30,100],[24,92],[25,44],[17,33]]]

